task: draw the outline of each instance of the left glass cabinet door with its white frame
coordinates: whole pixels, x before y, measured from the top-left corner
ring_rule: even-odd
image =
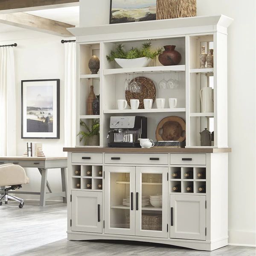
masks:
[[[105,233],[135,235],[135,167],[105,166]]]

